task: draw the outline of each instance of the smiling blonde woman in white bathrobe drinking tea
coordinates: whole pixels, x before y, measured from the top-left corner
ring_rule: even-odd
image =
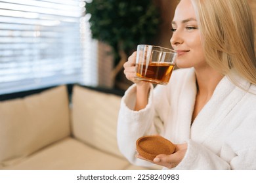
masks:
[[[135,84],[121,101],[121,152],[137,165],[164,169],[256,169],[256,60],[247,1],[181,0],[172,26],[180,69],[167,86],[135,80],[136,52],[124,64]],[[176,151],[149,163],[135,143],[155,134]]]

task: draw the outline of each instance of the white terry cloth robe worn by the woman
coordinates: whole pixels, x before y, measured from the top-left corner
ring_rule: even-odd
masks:
[[[239,82],[256,92],[249,82],[242,78]],[[188,144],[174,169],[256,169],[256,95],[235,86],[226,76],[193,123],[194,68],[177,69],[167,86],[152,85],[144,109],[133,110],[135,99],[133,85],[121,100],[117,124],[119,149],[131,163],[152,165],[135,158],[136,141],[143,135],[159,134],[175,144]]]

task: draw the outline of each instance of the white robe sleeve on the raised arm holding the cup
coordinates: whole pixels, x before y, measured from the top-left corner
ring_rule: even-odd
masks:
[[[154,124],[155,110],[153,106],[153,85],[150,88],[148,105],[139,111],[133,110],[136,101],[136,86],[131,86],[121,99],[117,122],[117,144],[121,153],[131,163],[141,166],[153,164],[142,159],[135,158],[136,141],[144,135],[157,134],[158,125]]]

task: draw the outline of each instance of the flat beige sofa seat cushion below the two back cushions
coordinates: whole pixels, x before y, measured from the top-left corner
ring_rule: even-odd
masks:
[[[79,170],[125,169],[128,161],[100,152],[70,137],[32,154],[7,169]]]

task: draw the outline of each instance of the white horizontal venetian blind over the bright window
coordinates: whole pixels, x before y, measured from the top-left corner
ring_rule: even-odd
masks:
[[[84,69],[93,67],[86,63],[93,50],[85,49],[96,44],[84,14],[83,0],[0,1],[0,94],[81,81],[92,85],[83,80]]]

